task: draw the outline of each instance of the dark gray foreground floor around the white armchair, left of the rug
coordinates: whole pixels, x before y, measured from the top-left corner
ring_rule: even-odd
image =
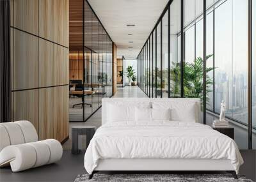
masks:
[[[60,161],[22,172],[12,172],[10,167],[0,169],[1,182],[14,181],[74,181],[78,174],[86,173],[83,165],[84,152],[72,155],[70,150],[63,151]]]

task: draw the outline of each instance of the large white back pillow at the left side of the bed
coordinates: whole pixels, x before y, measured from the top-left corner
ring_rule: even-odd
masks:
[[[108,105],[108,122],[135,121],[135,107],[120,105]]]

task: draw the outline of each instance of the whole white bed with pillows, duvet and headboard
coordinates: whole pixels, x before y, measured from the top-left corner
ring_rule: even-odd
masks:
[[[160,113],[154,121],[153,114],[150,121],[147,118],[149,108]],[[172,110],[169,120],[161,118],[167,108]],[[131,116],[138,112],[140,121]],[[84,155],[84,167],[92,175],[95,171],[231,171],[236,177],[242,163],[234,140],[200,124],[200,100],[191,98],[103,99],[102,126]]]

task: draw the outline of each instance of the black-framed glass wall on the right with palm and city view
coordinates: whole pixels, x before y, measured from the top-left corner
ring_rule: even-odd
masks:
[[[138,55],[138,86],[150,98],[200,98],[202,113],[213,117],[223,100],[226,118],[243,128],[239,147],[255,148],[255,11],[252,0],[170,1]]]

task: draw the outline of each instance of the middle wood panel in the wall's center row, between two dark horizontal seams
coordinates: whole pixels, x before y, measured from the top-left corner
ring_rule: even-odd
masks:
[[[39,40],[39,86],[54,86],[54,43]]]

